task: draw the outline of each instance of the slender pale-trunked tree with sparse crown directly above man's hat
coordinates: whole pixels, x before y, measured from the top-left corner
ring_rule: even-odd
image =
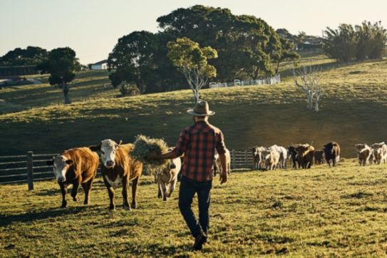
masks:
[[[199,43],[190,38],[177,38],[167,44],[168,57],[173,65],[182,71],[194,93],[195,103],[199,102],[199,92],[207,79],[215,77],[217,70],[208,63],[217,58],[217,51],[210,46],[200,48]]]

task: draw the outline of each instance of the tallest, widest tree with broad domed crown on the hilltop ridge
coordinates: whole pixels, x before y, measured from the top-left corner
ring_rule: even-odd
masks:
[[[163,33],[215,48],[219,58],[210,63],[220,81],[274,73],[272,59],[280,48],[279,36],[262,19],[197,5],[172,11],[158,22]]]

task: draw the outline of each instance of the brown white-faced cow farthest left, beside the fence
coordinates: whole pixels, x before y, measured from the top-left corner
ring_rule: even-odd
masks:
[[[97,174],[99,165],[98,155],[88,148],[73,148],[64,150],[60,155],[48,160],[47,165],[53,166],[53,174],[61,187],[62,208],[67,206],[66,192],[68,185],[73,185],[71,197],[76,202],[79,185],[82,185],[85,192],[83,204],[90,203],[91,185]]]

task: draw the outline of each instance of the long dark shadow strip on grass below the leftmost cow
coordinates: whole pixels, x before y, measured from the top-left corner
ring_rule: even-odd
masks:
[[[63,215],[76,215],[85,210],[91,210],[91,206],[67,207],[64,209],[53,208],[42,212],[34,211],[19,215],[0,215],[0,227],[5,227],[14,222],[34,222],[36,220],[46,220],[54,217],[61,217]]]

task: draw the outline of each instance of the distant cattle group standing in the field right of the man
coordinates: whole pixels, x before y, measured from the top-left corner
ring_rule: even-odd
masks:
[[[368,146],[366,143],[356,144],[359,165],[380,164],[387,162],[387,145],[384,142],[373,143]],[[293,168],[310,168],[313,163],[322,164],[326,162],[329,166],[336,166],[340,161],[340,145],[336,142],[326,143],[322,150],[315,150],[312,145],[297,144],[284,148],[272,145],[269,148],[264,146],[254,147],[252,156],[254,168],[258,170],[275,170],[286,168],[286,160],[291,160]]]

